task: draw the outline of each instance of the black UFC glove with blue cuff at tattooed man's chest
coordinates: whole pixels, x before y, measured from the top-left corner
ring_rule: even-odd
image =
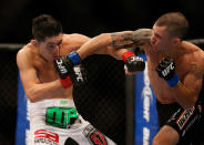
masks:
[[[159,76],[163,77],[170,86],[174,86],[178,83],[180,79],[175,73],[175,63],[173,59],[165,58],[156,68]]]

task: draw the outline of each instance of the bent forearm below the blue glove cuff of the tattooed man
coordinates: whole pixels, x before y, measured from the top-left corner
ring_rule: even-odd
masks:
[[[175,100],[184,108],[190,108],[195,105],[197,95],[195,91],[187,89],[184,84],[178,82],[174,87]]]

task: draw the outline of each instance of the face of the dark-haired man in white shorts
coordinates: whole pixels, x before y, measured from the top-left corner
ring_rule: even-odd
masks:
[[[43,42],[39,42],[39,53],[47,61],[53,62],[60,54],[62,43],[62,33],[57,37],[45,38]]]

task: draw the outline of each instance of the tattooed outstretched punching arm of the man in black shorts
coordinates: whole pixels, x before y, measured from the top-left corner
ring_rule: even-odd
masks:
[[[100,51],[101,49],[106,46],[112,46],[112,49],[115,50],[122,48],[141,46],[144,43],[150,42],[151,35],[151,29],[139,29],[136,31],[123,31],[115,33],[102,33],[88,41],[76,52],[81,59],[84,59],[96,50]],[[112,54],[119,55],[119,53]]]

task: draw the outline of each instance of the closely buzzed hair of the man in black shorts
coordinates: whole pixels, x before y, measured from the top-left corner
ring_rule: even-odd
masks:
[[[188,31],[187,19],[181,12],[169,12],[161,15],[155,25],[166,27],[170,35],[184,39]]]

